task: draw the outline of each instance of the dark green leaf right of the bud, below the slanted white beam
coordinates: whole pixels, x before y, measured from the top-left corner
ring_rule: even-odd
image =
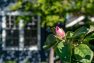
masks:
[[[84,38],[87,32],[88,29],[83,26],[74,32],[73,38]]]

